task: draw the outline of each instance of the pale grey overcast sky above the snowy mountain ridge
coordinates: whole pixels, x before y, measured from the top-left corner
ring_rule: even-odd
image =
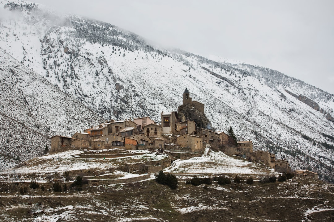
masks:
[[[255,63],[334,94],[334,1],[31,0],[163,47]]]

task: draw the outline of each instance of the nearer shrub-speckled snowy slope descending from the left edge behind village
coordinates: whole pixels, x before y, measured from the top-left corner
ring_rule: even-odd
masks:
[[[54,134],[72,135],[102,119],[0,48],[0,153],[27,160],[50,147]]]

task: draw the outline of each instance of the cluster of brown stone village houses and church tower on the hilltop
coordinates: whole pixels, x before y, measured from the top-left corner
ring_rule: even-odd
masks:
[[[185,89],[183,105],[204,114],[204,104],[192,101]],[[277,172],[290,171],[289,162],[275,158],[275,154],[262,150],[253,151],[252,141],[233,140],[225,132],[214,132],[198,127],[195,121],[179,121],[177,111],[161,112],[161,124],[150,117],[125,120],[110,120],[98,126],[76,132],[72,137],[55,135],[51,137],[50,153],[70,149],[102,150],[122,148],[144,150],[149,148],[203,154],[205,147],[215,147],[228,155],[262,162]],[[202,124],[203,125],[203,124]]]

